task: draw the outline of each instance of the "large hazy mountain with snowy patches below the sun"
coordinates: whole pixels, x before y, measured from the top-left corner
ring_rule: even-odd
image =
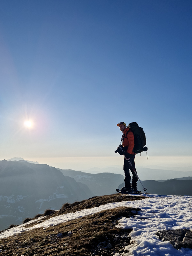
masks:
[[[47,164],[0,161],[0,229],[93,195],[85,184]]]

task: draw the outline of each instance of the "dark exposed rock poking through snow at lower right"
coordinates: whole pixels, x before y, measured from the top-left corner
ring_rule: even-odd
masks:
[[[176,249],[192,249],[192,231],[188,229],[162,230],[156,233],[160,239],[169,241]]]

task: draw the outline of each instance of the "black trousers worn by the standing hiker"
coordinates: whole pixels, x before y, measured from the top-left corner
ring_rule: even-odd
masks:
[[[125,179],[124,179],[125,188],[128,188],[128,189],[133,188],[134,189],[134,188],[137,188],[137,180],[138,180],[135,172],[133,171],[133,168],[136,171],[136,169],[135,169],[135,156],[133,155],[133,157],[130,157],[129,161],[131,162],[132,166],[127,161],[127,159],[124,157],[123,169],[124,169],[124,173],[125,173]],[[132,183],[131,183],[131,176],[130,176],[129,170],[132,172]]]

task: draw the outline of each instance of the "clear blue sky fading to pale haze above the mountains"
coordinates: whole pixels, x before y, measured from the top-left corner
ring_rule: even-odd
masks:
[[[139,164],[192,164],[192,1],[0,4],[1,160],[123,165],[116,124],[135,121]]]

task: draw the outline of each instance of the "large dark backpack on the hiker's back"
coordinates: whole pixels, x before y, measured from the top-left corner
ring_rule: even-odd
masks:
[[[130,128],[129,131],[132,131],[134,135],[135,146],[133,148],[133,152],[135,152],[135,154],[138,154],[143,151],[147,151],[148,148],[144,147],[146,145],[146,137],[143,128],[139,127],[136,122],[130,123],[127,127]]]

